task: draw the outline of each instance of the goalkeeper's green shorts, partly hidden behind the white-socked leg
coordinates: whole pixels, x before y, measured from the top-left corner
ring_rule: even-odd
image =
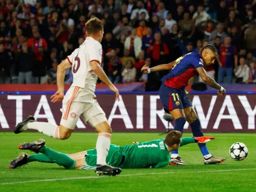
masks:
[[[108,156],[106,159],[106,163],[110,166],[120,167],[122,163],[124,163],[124,155],[123,155],[123,148],[117,145],[110,145]],[[97,150],[96,148],[87,150],[87,155],[85,157],[85,162],[88,166],[84,164],[83,169],[92,169],[97,166]]]

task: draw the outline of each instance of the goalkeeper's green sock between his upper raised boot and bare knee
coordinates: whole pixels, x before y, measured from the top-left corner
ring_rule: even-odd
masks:
[[[49,157],[49,159],[51,159],[52,161],[54,161],[60,166],[64,166],[68,170],[72,170],[76,166],[76,161],[74,161],[74,159],[71,159],[66,154],[56,152],[51,148],[44,146],[40,148],[39,152],[41,152],[42,154],[45,154],[45,156]]]

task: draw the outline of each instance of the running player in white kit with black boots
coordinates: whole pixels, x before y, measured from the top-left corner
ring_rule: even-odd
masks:
[[[104,70],[100,67],[102,60],[103,25],[97,18],[86,22],[86,40],[66,60],[62,61],[57,70],[58,91],[52,95],[51,101],[63,100],[64,107],[61,109],[62,117],[60,126],[46,122],[36,122],[33,116],[29,116],[15,127],[15,134],[35,129],[47,136],[59,140],[66,140],[76,127],[78,118],[81,116],[84,122],[90,124],[99,132],[96,143],[97,149],[97,175],[118,175],[120,168],[114,168],[106,164],[112,129],[106,115],[95,100],[95,87],[97,79],[108,84],[111,91],[119,100],[116,87],[109,81]],[[72,70],[73,83],[64,97],[65,70]]]

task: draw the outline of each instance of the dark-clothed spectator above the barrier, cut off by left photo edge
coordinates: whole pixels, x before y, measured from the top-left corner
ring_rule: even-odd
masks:
[[[0,83],[10,83],[10,56],[4,49],[4,44],[0,44]]]

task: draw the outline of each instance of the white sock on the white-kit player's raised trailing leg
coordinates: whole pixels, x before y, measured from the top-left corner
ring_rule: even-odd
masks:
[[[56,139],[60,139],[59,126],[57,125],[52,125],[45,122],[29,122],[28,129],[35,129],[39,132],[42,132],[42,134],[46,134],[47,136],[54,137]]]

